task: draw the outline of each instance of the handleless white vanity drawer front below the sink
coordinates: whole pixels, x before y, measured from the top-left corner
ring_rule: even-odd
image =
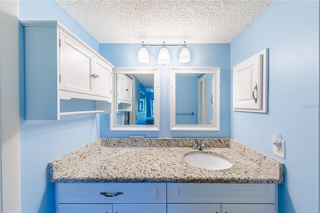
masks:
[[[168,203],[275,203],[276,184],[167,183]]]

